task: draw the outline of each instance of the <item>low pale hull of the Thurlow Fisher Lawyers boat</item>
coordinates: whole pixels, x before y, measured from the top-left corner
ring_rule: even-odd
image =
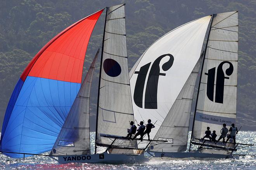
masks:
[[[155,157],[170,158],[234,158],[230,151],[197,150],[191,152],[154,152]]]

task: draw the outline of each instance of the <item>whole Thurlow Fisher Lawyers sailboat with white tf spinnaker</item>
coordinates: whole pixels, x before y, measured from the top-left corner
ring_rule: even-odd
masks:
[[[237,11],[188,22],[142,54],[130,71],[135,120],[155,119],[152,138],[168,141],[153,141],[147,151],[156,157],[232,158],[233,151],[249,146],[201,139],[207,127],[220,136],[223,123],[235,123],[237,60]],[[192,138],[185,152],[193,100]],[[199,148],[192,151],[192,144]]]

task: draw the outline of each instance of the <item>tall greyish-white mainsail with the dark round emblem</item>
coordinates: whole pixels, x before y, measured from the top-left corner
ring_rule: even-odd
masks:
[[[125,5],[107,7],[97,112],[97,146],[109,146],[113,139],[103,135],[126,136],[134,121],[126,52]],[[137,146],[136,141],[123,141]],[[97,148],[97,152],[101,152]]]

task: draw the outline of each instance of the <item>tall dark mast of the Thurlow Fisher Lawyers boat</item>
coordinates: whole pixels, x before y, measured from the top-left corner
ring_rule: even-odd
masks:
[[[212,14],[211,25],[213,23],[214,15],[215,14]],[[196,112],[196,108],[197,108],[197,101],[198,101],[198,96],[199,96],[200,82],[201,82],[201,78],[202,78],[202,71],[203,71],[203,68],[204,68],[204,59],[205,59],[205,55],[206,55],[206,48],[207,48],[207,45],[208,45],[208,40],[209,40],[209,36],[210,36],[210,32],[211,32],[211,25],[210,25],[210,28],[209,28],[209,33],[208,33],[208,37],[207,37],[207,41],[206,41],[206,46],[205,46],[205,50],[204,50],[204,57],[202,59],[201,75],[200,75],[200,79],[199,79],[199,85],[198,85],[198,89],[197,89],[197,97],[196,97],[196,102],[195,102],[195,112]],[[195,112],[194,112],[194,119],[193,119],[193,124],[192,124],[192,132],[191,132],[191,137],[190,137],[189,152],[190,152],[190,149],[191,149],[191,141],[192,141],[193,130],[194,130]]]

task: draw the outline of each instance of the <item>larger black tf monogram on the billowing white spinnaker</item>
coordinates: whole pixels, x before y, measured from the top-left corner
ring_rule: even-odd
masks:
[[[165,62],[162,66],[163,71],[167,71],[173,65],[174,57],[171,54],[164,54],[159,56],[154,63],[152,64],[149,77],[147,79],[147,85],[145,90],[145,109],[157,109],[157,86],[158,86],[158,79],[159,76],[165,76],[165,73],[160,73],[160,61],[165,56],[169,56],[170,59]],[[135,71],[135,74],[138,74],[135,89],[133,93],[133,99],[135,104],[142,108],[143,102],[143,92],[144,92],[144,85],[146,81],[147,72],[149,70],[150,63],[142,66],[140,71]]]

